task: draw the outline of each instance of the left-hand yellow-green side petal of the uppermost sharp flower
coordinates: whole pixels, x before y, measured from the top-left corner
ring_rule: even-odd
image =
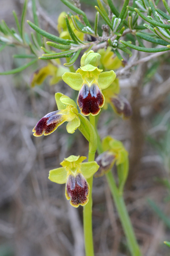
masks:
[[[71,72],[65,72],[64,75],[62,75],[63,81],[68,84],[73,90],[79,91],[83,80],[81,78],[81,75],[78,73],[71,73]]]

